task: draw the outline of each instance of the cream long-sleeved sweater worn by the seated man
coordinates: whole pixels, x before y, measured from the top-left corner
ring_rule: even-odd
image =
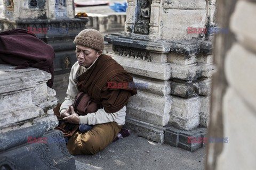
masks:
[[[98,58],[97,58],[98,60]],[[92,65],[97,61],[95,60]],[[79,91],[77,89],[78,77],[79,75],[83,74],[89,68],[85,68],[80,66],[78,62],[76,62],[72,68],[69,75],[69,84],[67,89],[67,97],[65,101],[62,103],[60,107],[60,114],[67,111],[69,105],[73,105],[78,95]],[[95,124],[102,124],[108,122],[116,122],[118,125],[124,125],[125,123],[125,116],[126,116],[126,106],[124,106],[120,111],[115,113],[107,113],[105,112],[104,108],[98,109],[95,113],[87,114],[86,116],[79,116],[79,124],[88,124],[88,125],[95,125]]]

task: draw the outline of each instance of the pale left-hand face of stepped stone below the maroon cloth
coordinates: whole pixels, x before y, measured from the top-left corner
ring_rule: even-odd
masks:
[[[1,130],[16,122],[26,121],[43,114],[41,108],[33,105],[31,90],[36,87],[36,83],[12,72],[12,67],[10,65],[9,67],[0,65]]]

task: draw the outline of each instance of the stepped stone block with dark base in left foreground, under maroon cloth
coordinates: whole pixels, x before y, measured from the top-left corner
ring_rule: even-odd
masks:
[[[63,133],[53,130],[59,122],[55,90],[46,86],[51,74],[14,67],[0,65],[0,168],[75,169]]]

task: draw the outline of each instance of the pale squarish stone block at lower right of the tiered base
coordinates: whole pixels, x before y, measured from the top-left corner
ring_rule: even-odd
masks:
[[[199,97],[183,99],[172,97],[169,124],[181,130],[191,130],[199,125]]]

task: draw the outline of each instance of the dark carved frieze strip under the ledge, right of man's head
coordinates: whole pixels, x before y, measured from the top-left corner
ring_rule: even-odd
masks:
[[[146,50],[113,45],[113,52],[119,56],[151,62],[151,56]]]

